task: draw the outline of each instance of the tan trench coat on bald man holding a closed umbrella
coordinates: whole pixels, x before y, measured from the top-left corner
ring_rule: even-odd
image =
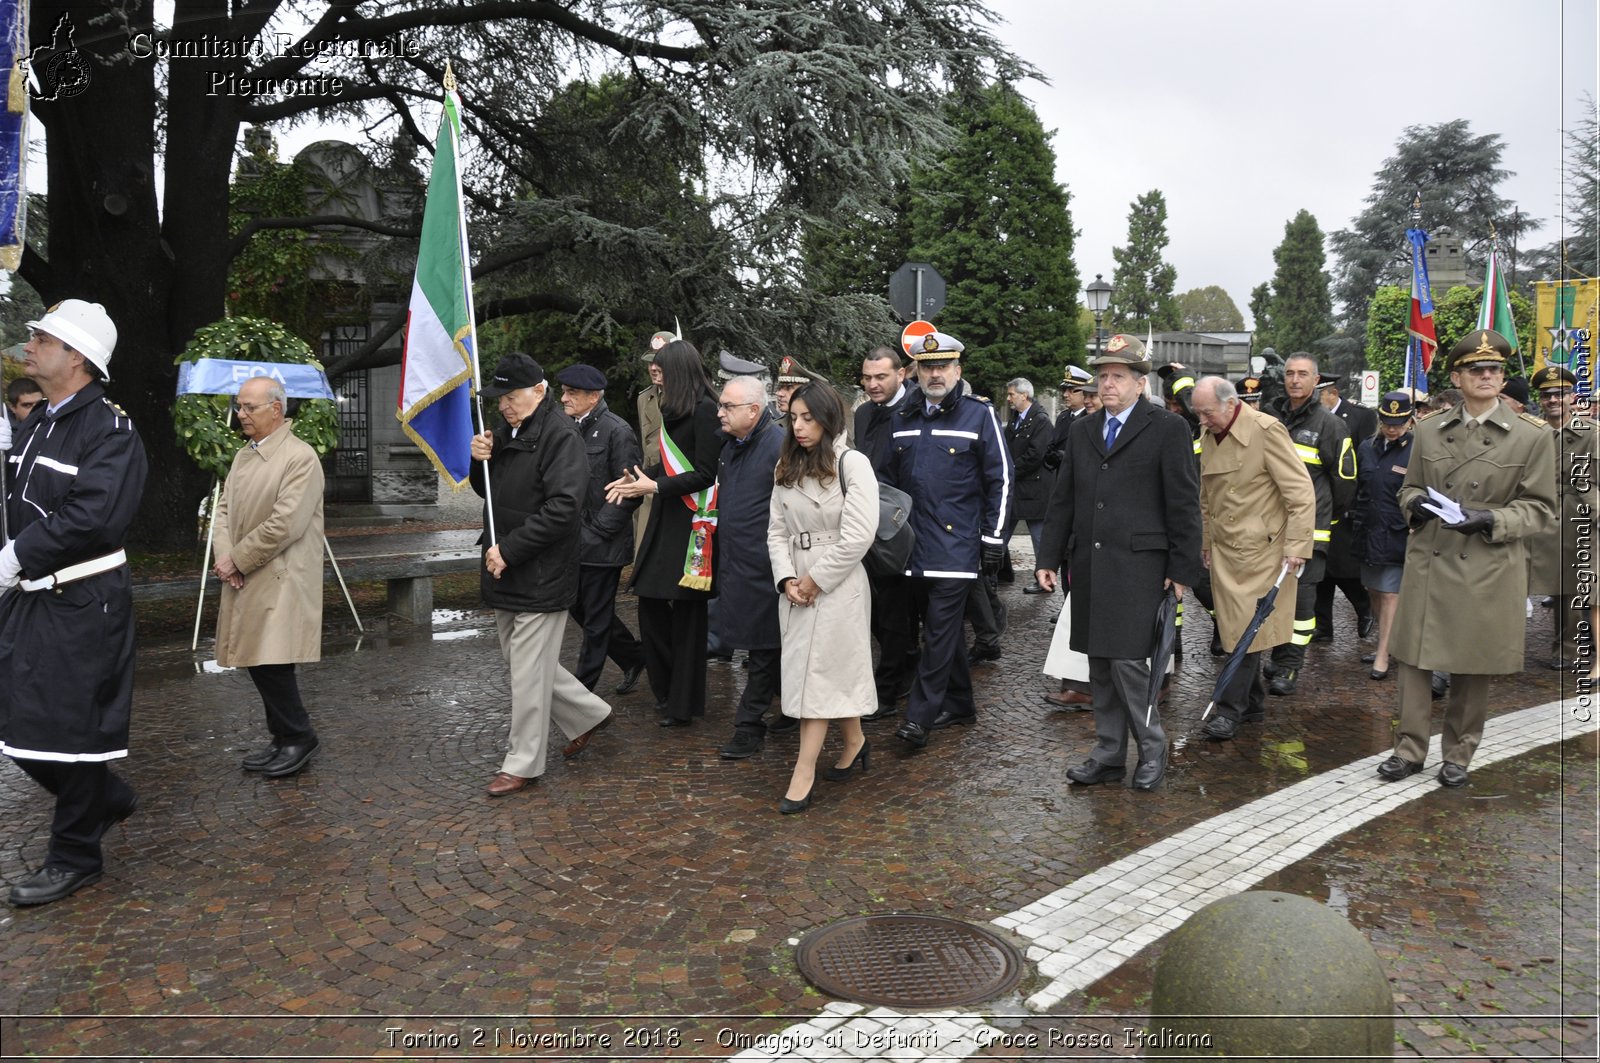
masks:
[[[1234,648],[1283,559],[1312,552],[1317,490],[1277,419],[1245,407],[1221,443],[1211,432],[1200,434],[1200,517],[1202,546],[1211,552],[1216,626],[1222,645]],[[1283,576],[1251,653],[1293,637],[1296,583],[1293,573]]]

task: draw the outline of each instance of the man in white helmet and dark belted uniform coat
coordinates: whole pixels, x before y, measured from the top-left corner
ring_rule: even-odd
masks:
[[[66,299],[30,330],[24,365],[43,416],[19,429],[0,549],[0,752],[56,797],[43,866],[13,905],[48,905],[101,877],[101,837],[138,797],[128,756],[133,591],[123,540],[144,495],[144,443],[106,397],[117,327]]]

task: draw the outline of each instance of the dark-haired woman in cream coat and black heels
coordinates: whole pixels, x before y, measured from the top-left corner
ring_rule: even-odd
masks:
[[[845,748],[822,776],[848,780],[867,770],[872,749],[861,717],[878,708],[872,682],[872,591],[861,559],[878,530],[878,480],[872,463],[845,445],[845,407],[827,384],[789,397],[789,426],[774,472],[766,523],[782,632],[784,716],[800,719],[800,754],[784,815],[811,807],[816,759],[827,722],[840,720]]]

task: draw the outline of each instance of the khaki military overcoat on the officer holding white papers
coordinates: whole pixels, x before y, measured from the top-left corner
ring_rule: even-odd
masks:
[[[1435,487],[1494,514],[1488,535],[1461,535],[1438,520],[1413,528],[1400,576],[1389,652],[1416,668],[1464,676],[1522,671],[1528,544],[1555,514],[1555,434],[1504,402],[1475,432],[1464,407],[1419,421],[1400,509]]]

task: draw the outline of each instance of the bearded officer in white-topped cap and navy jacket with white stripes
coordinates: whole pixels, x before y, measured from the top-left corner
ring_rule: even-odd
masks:
[[[973,581],[1000,570],[1011,504],[1011,456],[994,408],[957,389],[963,344],[928,333],[912,357],[918,384],[894,415],[894,455],[883,479],[912,496],[912,588],[923,610],[923,652],[906,722],[896,736],[914,748],[928,732],[978,716],[962,644]]]

